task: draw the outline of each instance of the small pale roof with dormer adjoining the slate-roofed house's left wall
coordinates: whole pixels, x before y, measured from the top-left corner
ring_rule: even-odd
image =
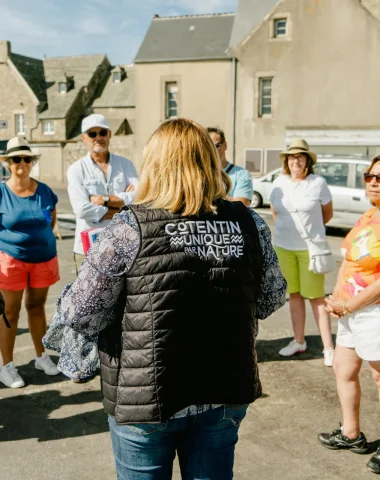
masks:
[[[120,65],[124,68],[127,77],[120,83],[112,81],[112,71],[106,77],[105,82],[100,85],[96,99],[92,106],[94,108],[117,108],[135,107],[135,69],[131,65]]]

